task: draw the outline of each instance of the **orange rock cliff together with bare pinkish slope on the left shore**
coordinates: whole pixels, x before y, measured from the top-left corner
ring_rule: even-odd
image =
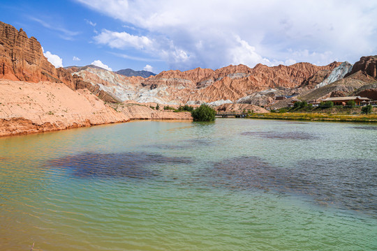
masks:
[[[131,119],[191,119],[189,113],[156,111],[135,102],[120,104],[113,93],[72,75],[71,70],[54,68],[36,38],[0,22],[0,137]]]

